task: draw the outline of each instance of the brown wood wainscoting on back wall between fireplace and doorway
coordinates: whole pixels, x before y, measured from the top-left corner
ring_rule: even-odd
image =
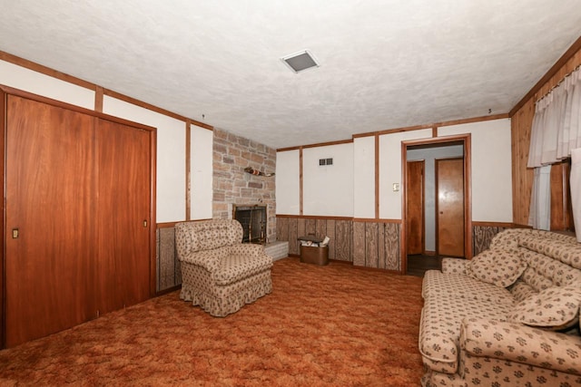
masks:
[[[400,271],[400,221],[277,215],[277,240],[289,242],[289,255],[299,256],[298,237],[330,237],[329,259]]]

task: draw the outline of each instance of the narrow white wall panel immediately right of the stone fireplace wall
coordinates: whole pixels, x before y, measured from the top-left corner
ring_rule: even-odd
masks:
[[[276,213],[300,215],[300,151],[276,153]]]

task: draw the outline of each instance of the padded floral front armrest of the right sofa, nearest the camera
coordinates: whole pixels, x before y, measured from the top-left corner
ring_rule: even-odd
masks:
[[[581,337],[576,335],[470,318],[460,326],[460,348],[472,356],[581,375]]]

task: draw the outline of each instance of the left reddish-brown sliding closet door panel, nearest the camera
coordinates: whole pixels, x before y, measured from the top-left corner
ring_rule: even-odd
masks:
[[[94,118],[12,95],[6,110],[5,337],[14,346],[95,316]]]

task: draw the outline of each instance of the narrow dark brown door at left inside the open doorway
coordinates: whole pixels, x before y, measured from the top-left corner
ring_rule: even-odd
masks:
[[[407,162],[406,243],[409,255],[423,254],[425,250],[424,171],[424,160]]]

